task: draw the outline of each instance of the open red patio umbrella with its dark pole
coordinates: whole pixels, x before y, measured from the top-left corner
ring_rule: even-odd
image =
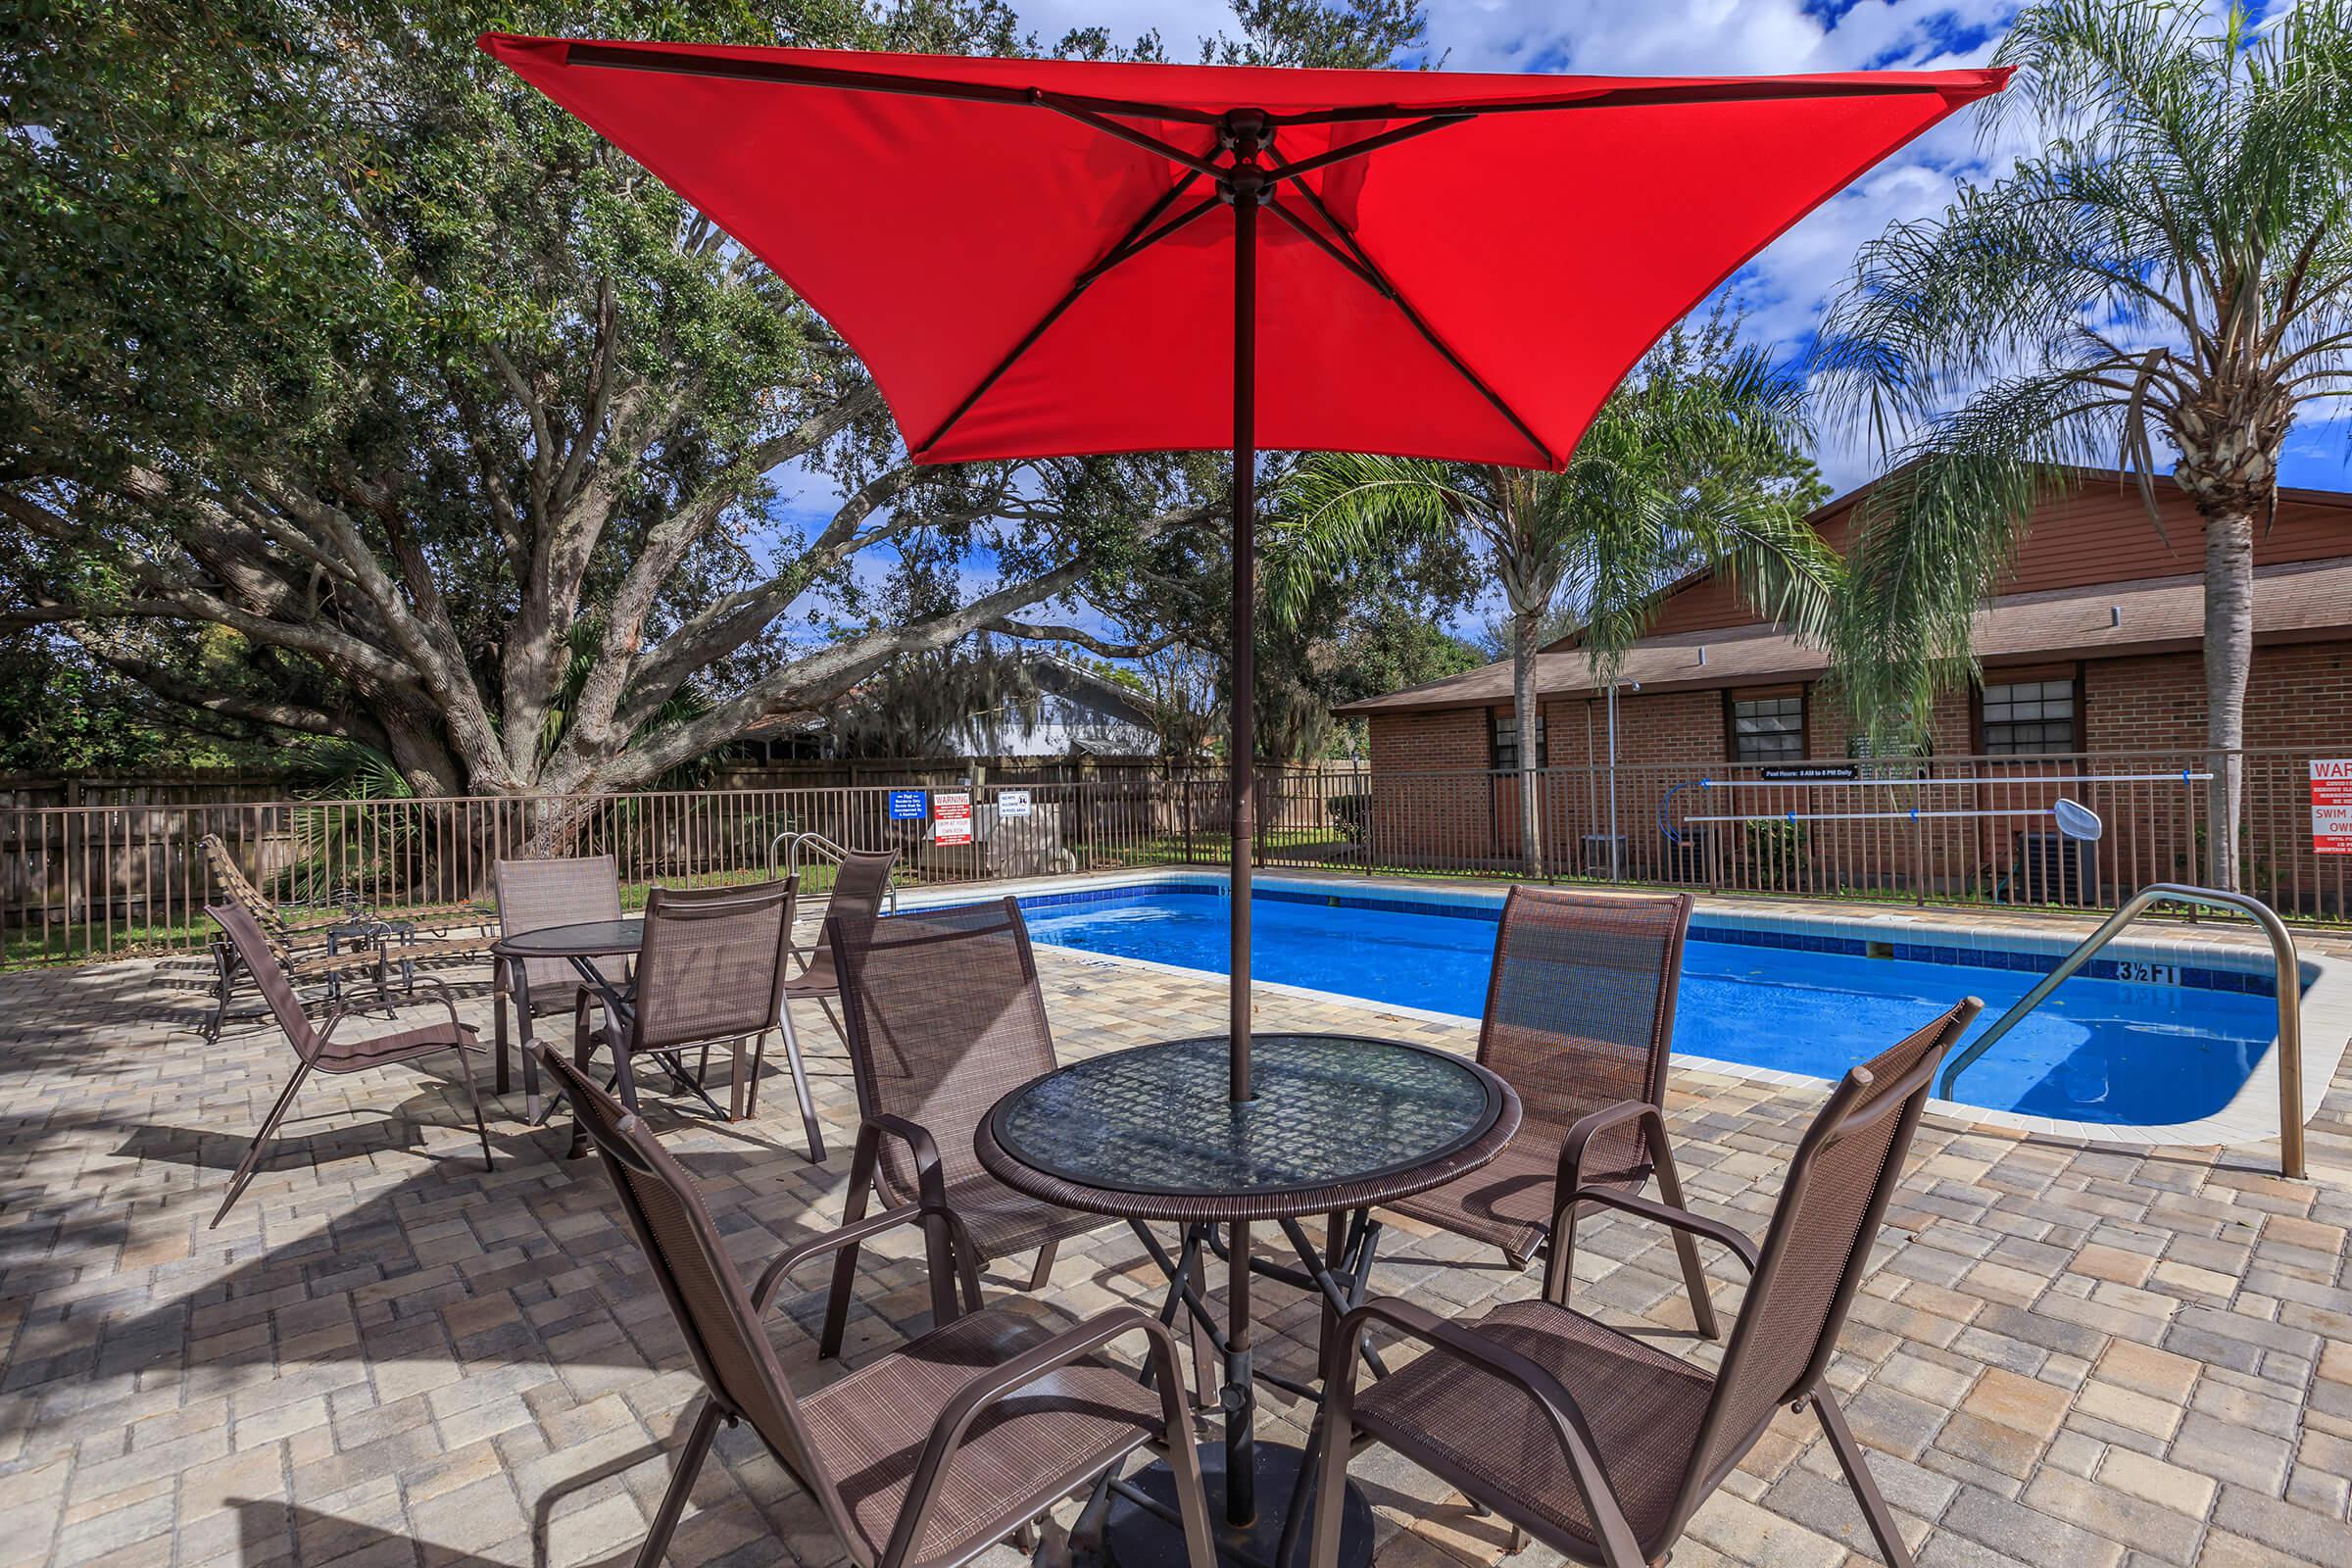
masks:
[[[823,313],[917,463],[1235,451],[1235,1100],[1256,449],[1564,468],[1715,284],[2006,80],[482,47]]]

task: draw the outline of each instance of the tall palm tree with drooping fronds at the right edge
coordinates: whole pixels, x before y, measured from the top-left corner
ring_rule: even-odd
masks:
[[[2206,529],[2206,837],[2237,886],[2253,529],[2296,414],[2352,390],[2352,5],[2213,33],[2204,5],[2063,0],[1994,59],[2018,75],[1983,136],[2042,150],[1889,226],[1820,329],[1828,407],[1910,463],[1849,548],[1849,689],[1872,729],[1924,717],[2058,465],[2117,461],[2154,517],[2161,437]]]

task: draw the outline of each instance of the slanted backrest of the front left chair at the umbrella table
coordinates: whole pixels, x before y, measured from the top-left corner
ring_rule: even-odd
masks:
[[[828,1500],[833,1481],[811,1462],[793,1387],[694,1178],[640,1117],[623,1110],[562,1051],[541,1048],[539,1060],[572,1098],[581,1128],[604,1157],[604,1173],[621,1194],[628,1227],[654,1267],[710,1399],[750,1422],[776,1458],[818,1488],[821,1502]],[[837,1500],[828,1505],[828,1514],[840,1519]]]

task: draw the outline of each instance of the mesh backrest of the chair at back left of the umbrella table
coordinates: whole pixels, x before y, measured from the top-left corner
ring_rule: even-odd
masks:
[[[1011,898],[877,919],[863,940],[826,919],[858,1110],[929,1128],[941,1173],[981,1171],[971,1133],[1007,1091],[1054,1070],[1028,922]],[[882,1140],[891,1201],[915,1197],[915,1164]]]

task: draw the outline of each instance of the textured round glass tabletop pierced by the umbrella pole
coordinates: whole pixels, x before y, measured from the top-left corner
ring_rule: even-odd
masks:
[[[1477,1065],[1390,1039],[1258,1034],[1256,1098],[1225,1093],[1225,1037],[1115,1051],[990,1112],[1023,1166],[1103,1192],[1251,1197],[1378,1182],[1496,1131],[1510,1091]]]

